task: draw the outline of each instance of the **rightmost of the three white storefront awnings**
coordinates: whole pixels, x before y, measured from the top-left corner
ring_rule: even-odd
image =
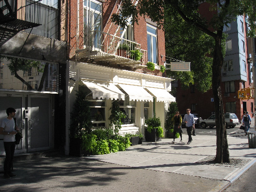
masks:
[[[146,88],[153,96],[156,97],[156,101],[172,101],[176,102],[176,98],[169,94],[168,91],[165,89],[158,89],[158,88]]]

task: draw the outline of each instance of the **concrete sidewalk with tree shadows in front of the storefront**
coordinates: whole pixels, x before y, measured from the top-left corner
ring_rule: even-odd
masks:
[[[0,176],[0,191],[220,192],[256,162],[256,149],[237,127],[227,136],[231,164],[209,161],[216,155],[216,136],[197,135],[187,144],[183,134],[183,142],[164,138],[105,155],[16,157],[17,176]]]

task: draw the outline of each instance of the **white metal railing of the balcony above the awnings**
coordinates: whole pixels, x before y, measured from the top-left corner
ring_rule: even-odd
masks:
[[[146,64],[147,51],[141,45],[106,32],[90,31],[84,36],[84,45],[91,51],[101,51],[108,54],[125,57]]]

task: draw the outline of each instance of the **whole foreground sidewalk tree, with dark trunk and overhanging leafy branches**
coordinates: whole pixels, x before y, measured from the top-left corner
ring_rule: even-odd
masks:
[[[199,12],[202,3],[209,3],[211,17]],[[224,105],[221,94],[221,69],[224,63],[223,40],[224,26],[235,20],[237,16],[248,16],[248,35],[256,34],[256,0],[131,0],[122,1],[120,13],[112,15],[112,22],[125,27],[127,18],[138,23],[139,16],[150,17],[159,28],[164,27],[164,10],[168,9],[168,17],[180,16],[187,23],[187,29],[196,28],[212,37],[212,91],[216,116],[216,157],[219,163],[230,162],[227,135],[224,121]],[[207,11],[207,10],[204,10]],[[178,20],[176,22],[179,22]],[[201,38],[201,37],[200,37]],[[207,49],[208,50],[208,49]]]

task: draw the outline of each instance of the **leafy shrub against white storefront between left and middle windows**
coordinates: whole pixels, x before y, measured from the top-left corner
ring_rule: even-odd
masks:
[[[120,111],[120,107],[118,104],[118,100],[113,100],[112,107],[110,108],[111,115],[109,117],[110,126],[114,128],[114,133],[118,134],[119,129],[121,129],[121,125],[123,125],[122,120],[126,118],[126,114]]]

